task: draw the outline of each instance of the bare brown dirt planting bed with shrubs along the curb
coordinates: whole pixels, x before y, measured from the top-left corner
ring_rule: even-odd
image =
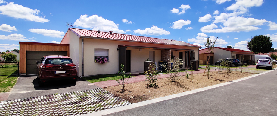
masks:
[[[127,84],[125,87],[125,92],[121,91],[120,86],[111,86],[104,89],[131,103],[137,103],[145,100],[151,100],[185,91],[191,91],[198,88],[212,86],[251,75],[254,75],[254,73],[240,73],[239,71],[232,71],[232,73],[229,75],[225,74],[224,77],[222,73],[214,71],[210,72],[209,79],[207,74],[203,76],[203,73],[189,75],[189,78],[181,76],[176,80],[176,82],[170,82],[169,78],[158,79],[157,88],[148,88],[148,81],[143,81]],[[192,76],[193,80],[191,82]]]

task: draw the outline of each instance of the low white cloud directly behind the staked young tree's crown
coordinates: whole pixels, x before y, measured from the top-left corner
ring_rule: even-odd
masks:
[[[195,38],[189,38],[188,42],[195,42],[194,45],[199,45],[199,46],[203,46],[204,43],[207,42],[207,37],[208,35],[204,34],[204,33],[198,33],[198,36]],[[210,36],[210,40],[212,40],[212,42],[215,42],[215,45],[221,47],[222,45],[226,45],[228,44],[228,42],[226,42],[223,39],[217,39],[215,36]],[[201,45],[202,44],[202,45]]]

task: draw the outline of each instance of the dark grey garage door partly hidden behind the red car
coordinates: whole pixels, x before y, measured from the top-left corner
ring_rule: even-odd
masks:
[[[26,74],[36,74],[36,61],[39,61],[43,56],[48,55],[63,55],[67,56],[67,51],[26,51],[27,72]]]

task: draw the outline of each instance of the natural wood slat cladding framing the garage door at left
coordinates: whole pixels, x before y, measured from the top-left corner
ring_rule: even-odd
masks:
[[[26,73],[26,51],[67,51],[67,56],[69,56],[69,45],[49,43],[37,43],[36,45],[36,43],[33,42],[19,43],[19,73]]]

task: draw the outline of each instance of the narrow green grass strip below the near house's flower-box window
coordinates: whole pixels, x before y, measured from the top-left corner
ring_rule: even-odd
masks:
[[[125,76],[128,77],[129,75],[126,74]],[[132,77],[134,77],[134,76],[132,76]],[[84,77],[82,79],[87,80],[90,83],[94,83],[94,82],[107,81],[107,80],[118,80],[119,75],[118,74],[104,74],[104,75],[96,75],[96,76],[91,76],[91,77]]]

